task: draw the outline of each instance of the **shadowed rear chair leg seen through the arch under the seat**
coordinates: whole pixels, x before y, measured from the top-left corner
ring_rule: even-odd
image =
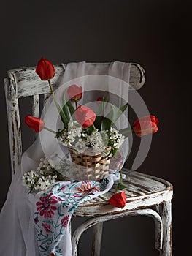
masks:
[[[103,222],[93,226],[92,256],[100,256]]]

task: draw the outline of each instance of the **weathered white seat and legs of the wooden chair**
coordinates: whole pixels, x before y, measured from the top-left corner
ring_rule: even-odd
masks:
[[[123,184],[127,187],[125,189],[126,206],[123,209],[115,208],[108,202],[114,192],[114,189],[111,189],[110,192],[83,203],[75,211],[74,216],[91,217],[91,219],[85,222],[82,227],[78,227],[74,233],[72,240],[74,255],[77,255],[78,237],[88,227],[91,227],[90,223],[96,225],[93,230],[93,236],[95,237],[96,233],[101,234],[101,230],[96,230],[100,222],[133,214],[153,217],[155,220],[155,248],[160,251],[160,255],[162,256],[165,256],[168,250],[171,252],[171,230],[169,228],[171,212],[168,210],[166,202],[170,203],[172,200],[172,184],[164,179],[148,176],[145,173],[139,173],[133,170],[123,169],[123,173],[126,174]],[[157,210],[153,210],[152,208],[156,208]],[[162,208],[162,210],[158,211],[159,208]],[[93,240],[93,256],[99,255],[98,252],[101,249],[100,241],[98,244],[95,244],[95,239]],[[167,242],[165,243],[165,241]],[[167,255],[169,256],[170,254]]]

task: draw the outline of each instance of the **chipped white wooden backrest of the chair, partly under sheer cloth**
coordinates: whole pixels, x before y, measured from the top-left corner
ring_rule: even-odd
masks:
[[[58,78],[64,74],[63,65],[54,65],[55,77],[52,80],[53,89],[58,87]],[[139,65],[132,63],[130,71],[130,85],[138,90],[145,83],[145,70]],[[35,72],[35,67],[11,69],[4,78],[4,90],[7,104],[7,121],[9,129],[9,148],[11,157],[12,175],[18,171],[22,156],[22,140],[20,128],[21,97],[32,97],[33,116],[40,116],[40,95],[45,104],[50,96],[50,87],[47,81],[42,81]]]

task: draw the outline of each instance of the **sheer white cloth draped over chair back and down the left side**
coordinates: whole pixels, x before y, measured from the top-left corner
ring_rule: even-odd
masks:
[[[119,108],[123,105],[123,102],[128,102],[130,66],[131,64],[120,61],[101,64],[86,63],[85,61],[70,63],[66,65],[64,76],[58,80],[58,83],[62,86],[64,85],[64,87],[76,83],[82,86],[83,91],[93,89],[110,91],[110,102]],[[60,86],[56,92],[58,97],[62,86]],[[90,105],[91,100],[93,100],[91,107],[94,107],[94,105],[96,105],[96,96],[100,97],[101,92],[96,92],[94,99],[88,98],[88,94],[85,94],[85,97],[82,97],[82,103]],[[45,124],[47,127],[54,129],[55,126],[58,126],[58,120],[50,121],[50,116],[55,113],[53,103],[50,106],[45,113]],[[124,128],[127,127],[127,125],[128,119],[127,116],[124,116],[117,122],[116,127]],[[50,132],[46,130],[40,132],[39,138],[37,138],[32,146],[23,154],[20,173],[16,173],[15,176],[12,177],[7,200],[0,214],[0,255],[39,255],[34,232],[35,194],[28,194],[28,189],[23,186],[21,177],[26,171],[35,170],[39,164],[39,159],[44,155],[49,157],[55,151],[61,151],[58,143],[53,143],[53,140],[50,140],[51,136]],[[128,143],[124,143],[123,145],[123,154],[125,157],[126,154],[128,154]],[[65,236],[67,244],[67,241],[70,242],[69,233],[66,233]],[[71,255],[71,253],[70,249],[69,252],[67,252],[66,249],[66,256]]]

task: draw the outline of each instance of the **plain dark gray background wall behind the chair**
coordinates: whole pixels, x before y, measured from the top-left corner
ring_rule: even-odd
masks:
[[[139,94],[160,130],[139,167],[174,185],[173,255],[188,255],[187,215],[191,187],[191,8],[187,0],[3,1],[0,15],[1,179],[0,206],[11,181],[3,78],[8,69],[35,66],[41,56],[53,64],[71,61],[127,61],[145,68]],[[28,131],[28,130],[27,130]],[[135,145],[139,140],[135,138]],[[29,144],[29,141],[28,141]],[[134,153],[126,166],[131,166]],[[76,219],[74,225],[80,222]],[[148,217],[107,222],[101,255],[155,256],[154,224]],[[2,232],[2,230],[1,230]],[[2,234],[2,233],[1,233]],[[80,255],[90,255],[91,230]],[[2,234],[5,236],[6,234]],[[186,251],[185,251],[186,249]],[[6,255],[9,256],[9,255]]]

